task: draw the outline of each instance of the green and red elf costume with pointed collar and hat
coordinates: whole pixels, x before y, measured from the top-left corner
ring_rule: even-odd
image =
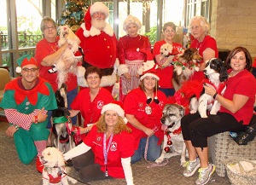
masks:
[[[26,65],[38,66],[30,55],[23,56],[17,62],[21,68]],[[55,93],[44,78],[36,78],[36,84],[31,90],[26,90],[21,80],[22,77],[15,78],[6,84],[0,107],[3,107],[9,124],[15,125],[14,140],[20,161],[29,164],[44,150],[49,136],[49,130],[46,129],[47,119],[39,123],[32,123],[32,120],[43,107],[45,115],[48,110],[57,106]]]

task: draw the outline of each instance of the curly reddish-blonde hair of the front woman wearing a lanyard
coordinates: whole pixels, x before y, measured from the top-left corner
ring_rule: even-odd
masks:
[[[96,127],[98,132],[105,133],[107,130],[107,124],[105,121],[105,113],[102,114],[101,118],[96,122]],[[118,122],[114,125],[113,134],[119,134],[122,131],[127,131],[131,133],[131,128],[129,128],[122,117],[119,116]]]

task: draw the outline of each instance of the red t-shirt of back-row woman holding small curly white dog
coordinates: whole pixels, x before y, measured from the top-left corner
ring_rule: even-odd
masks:
[[[155,57],[155,55],[160,55],[160,47],[165,43],[166,43],[165,40],[161,40],[154,43],[153,57]],[[182,45],[179,43],[172,43],[172,47],[173,49],[177,49],[177,50],[180,50],[181,48],[183,48]],[[157,63],[159,63],[159,61],[157,61]],[[160,88],[172,89],[173,88],[172,86],[173,66],[166,66],[166,68],[164,69],[158,68],[156,72],[157,72],[157,76],[159,76],[160,78],[159,80]]]

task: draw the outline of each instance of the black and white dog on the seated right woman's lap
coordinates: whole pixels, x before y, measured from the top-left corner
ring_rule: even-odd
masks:
[[[228,79],[228,72],[224,62],[217,58],[213,58],[207,62],[204,73],[207,79],[203,80],[199,88],[201,89],[200,98],[198,100],[197,97],[193,97],[190,101],[190,113],[198,111],[201,118],[207,118],[207,110],[210,111],[210,114],[216,114],[220,108],[218,101],[214,100],[211,95],[205,93],[203,85],[212,85],[218,94],[223,95],[226,88],[225,81]]]

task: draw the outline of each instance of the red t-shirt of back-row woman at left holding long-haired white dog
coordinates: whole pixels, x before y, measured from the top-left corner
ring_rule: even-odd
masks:
[[[43,38],[41,41],[38,42],[36,46],[36,52],[35,52],[35,59],[38,61],[39,65],[39,75],[42,78],[45,78],[49,81],[49,84],[51,84],[54,91],[58,90],[58,84],[56,82],[57,80],[57,72],[55,73],[49,73],[48,70],[51,69],[51,66],[42,66],[41,62],[43,59],[53,54],[55,51],[54,49],[58,49],[55,44],[58,43],[59,37],[56,38],[56,43],[49,43],[45,38]],[[77,77],[72,74],[67,74],[67,91],[74,90],[78,87],[78,81]]]

